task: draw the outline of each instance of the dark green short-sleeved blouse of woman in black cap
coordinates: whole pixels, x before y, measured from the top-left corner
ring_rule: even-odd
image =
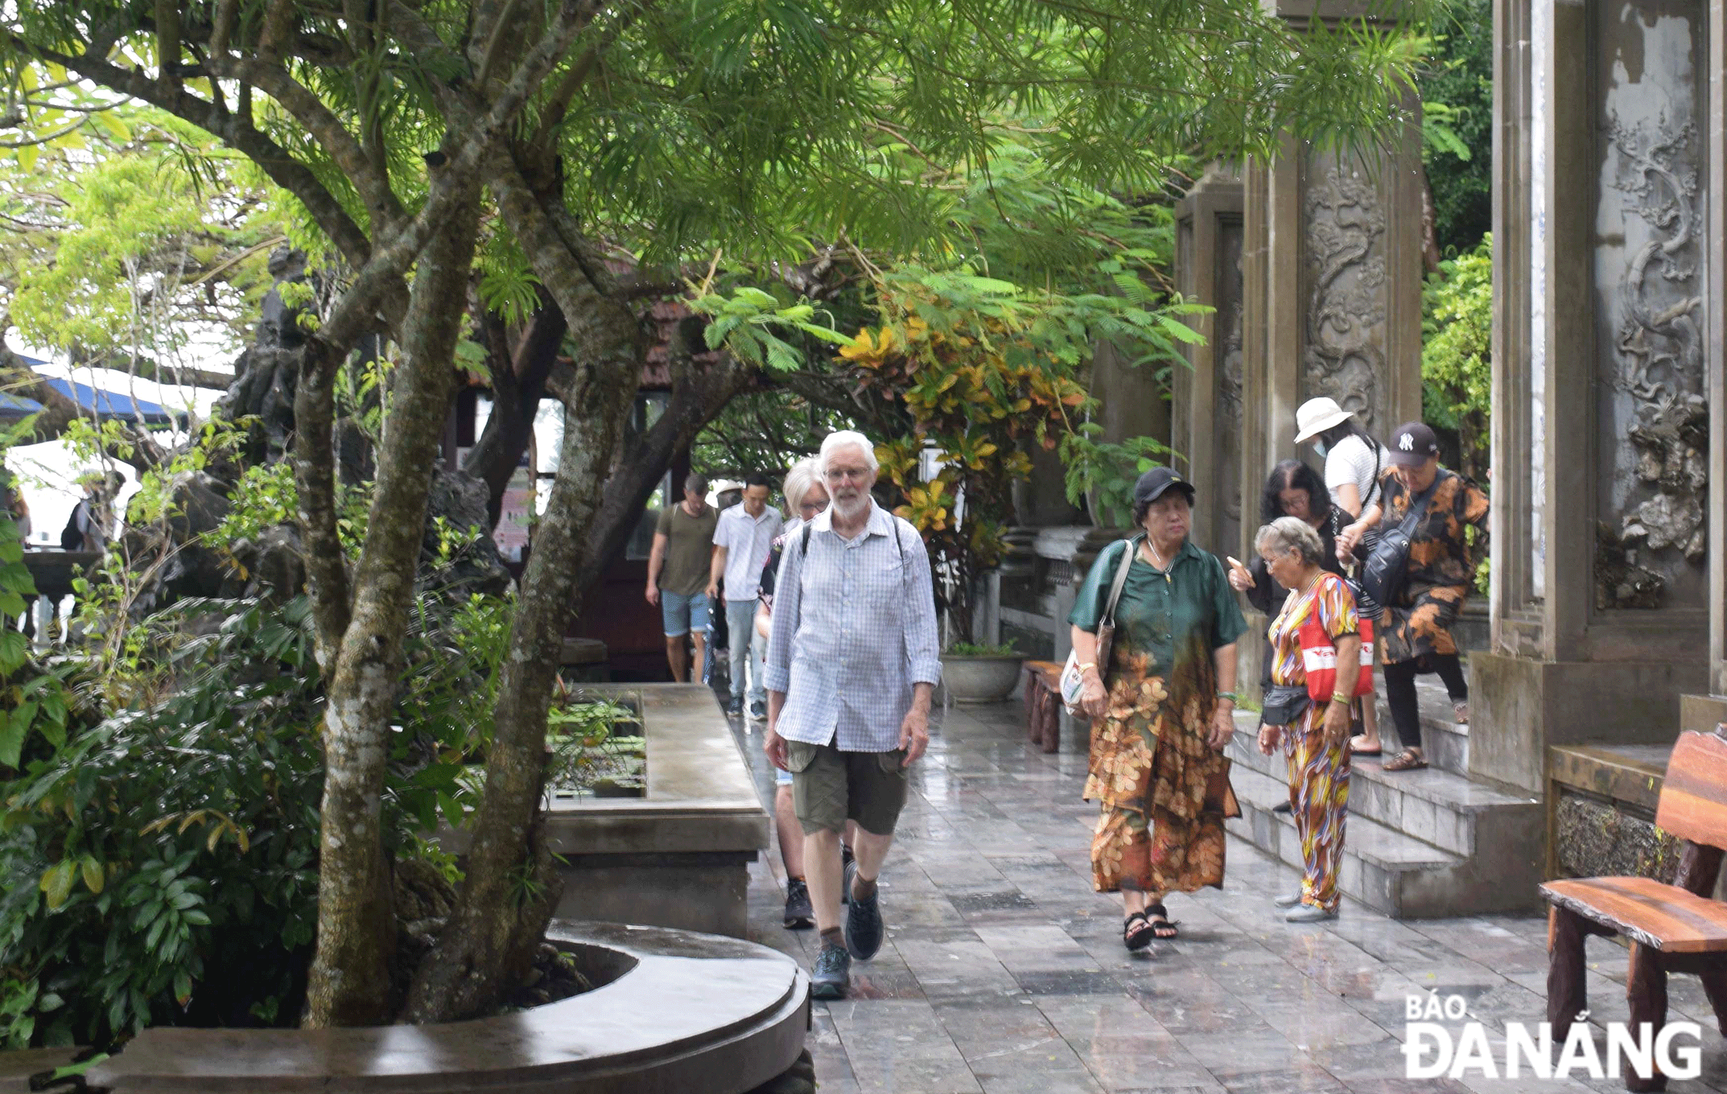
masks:
[[[1079,587],[1074,609],[1067,614],[1069,623],[1097,633],[1109,587],[1126,549],[1128,540],[1117,540],[1098,552]],[[1176,552],[1166,578],[1143,556],[1135,554],[1128,583],[1116,604],[1116,638],[1150,654],[1152,664],[1162,668],[1159,675],[1176,668],[1178,647],[1216,651],[1240,638],[1245,630],[1247,619],[1242,618],[1218,556],[1188,540]],[[1204,644],[1192,642],[1195,633],[1204,635]]]

